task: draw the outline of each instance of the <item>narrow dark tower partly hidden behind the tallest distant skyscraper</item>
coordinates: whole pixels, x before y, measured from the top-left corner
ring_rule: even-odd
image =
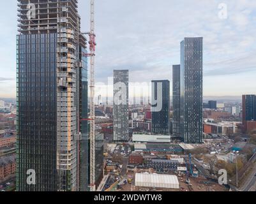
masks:
[[[180,124],[180,65],[172,66],[172,104],[173,104],[173,121],[172,121],[172,133],[179,135]]]

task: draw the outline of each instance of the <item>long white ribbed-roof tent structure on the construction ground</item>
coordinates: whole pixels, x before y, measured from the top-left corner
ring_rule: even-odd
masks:
[[[135,186],[179,189],[179,180],[176,175],[136,173]]]

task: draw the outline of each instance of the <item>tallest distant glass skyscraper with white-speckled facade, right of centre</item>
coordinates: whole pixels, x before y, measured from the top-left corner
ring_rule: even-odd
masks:
[[[181,41],[181,136],[186,143],[202,143],[203,38]]]

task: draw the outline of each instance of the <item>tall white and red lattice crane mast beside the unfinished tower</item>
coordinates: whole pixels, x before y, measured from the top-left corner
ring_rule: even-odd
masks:
[[[94,110],[94,62],[95,62],[95,31],[94,31],[94,0],[91,0],[91,31],[89,33],[90,46],[90,191],[96,191],[95,187],[95,110]]]

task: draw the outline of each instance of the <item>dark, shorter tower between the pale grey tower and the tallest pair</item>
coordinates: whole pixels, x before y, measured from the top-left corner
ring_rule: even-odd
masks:
[[[152,81],[152,133],[170,135],[170,81]]]

